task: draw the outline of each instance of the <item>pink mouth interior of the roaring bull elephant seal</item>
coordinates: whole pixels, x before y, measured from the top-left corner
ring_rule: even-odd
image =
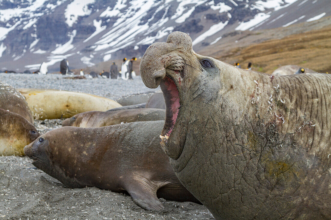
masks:
[[[169,136],[178,117],[180,107],[179,93],[175,83],[169,77],[164,78],[164,85],[161,86],[161,89],[166,101],[166,122],[164,129],[167,129],[167,131],[165,135]]]

